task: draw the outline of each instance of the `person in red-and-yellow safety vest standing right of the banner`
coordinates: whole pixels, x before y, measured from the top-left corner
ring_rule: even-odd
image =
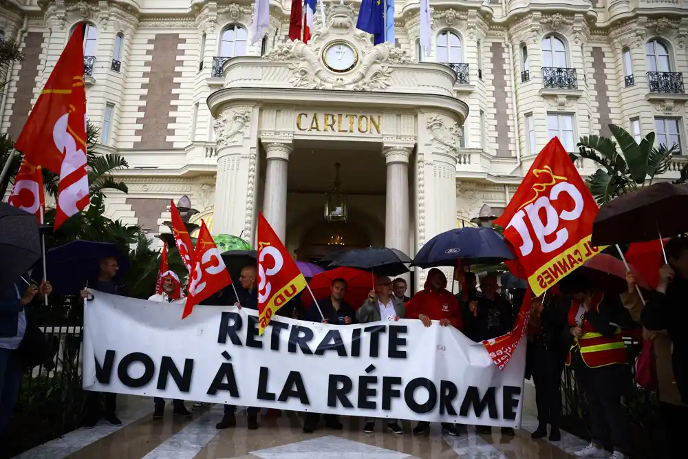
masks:
[[[576,381],[585,393],[590,412],[590,445],[574,453],[577,458],[627,459],[628,419],[621,396],[630,389],[630,368],[621,328],[614,324],[621,310],[618,295],[594,291],[590,281],[577,273],[559,283],[561,292],[572,299],[568,312],[568,333],[573,344],[566,365],[574,370]],[[614,452],[603,445],[611,431]]]

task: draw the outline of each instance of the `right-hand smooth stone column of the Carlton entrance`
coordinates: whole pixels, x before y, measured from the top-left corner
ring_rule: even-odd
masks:
[[[413,147],[384,147],[387,164],[385,246],[411,256],[409,248],[409,156]]]

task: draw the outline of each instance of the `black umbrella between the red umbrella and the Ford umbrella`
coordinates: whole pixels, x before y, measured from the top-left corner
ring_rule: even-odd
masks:
[[[336,257],[330,264],[332,268],[349,266],[370,271],[378,276],[398,276],[409,272],[407,264],[411,258],[401,250],[388,247],[368,247],[350,250]]]

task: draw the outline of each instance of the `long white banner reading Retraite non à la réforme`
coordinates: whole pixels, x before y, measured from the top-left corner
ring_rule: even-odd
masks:
[[[101,292],[85,306],[87,390],[346,416],[519,427],[526,346],[504,370],[481,343],[418,320],[327,325]]]

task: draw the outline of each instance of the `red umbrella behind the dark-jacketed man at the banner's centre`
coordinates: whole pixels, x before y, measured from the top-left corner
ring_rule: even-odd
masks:
[[[312,290],[316,299],[327,298],[330,296],[330,286],[334,279],[344,279],[347,283],[346,295],[344,301],[349,303],[352,308],[358,309],[363,304],[363,301],[368,297],[368,292],[376,283],[374,275],[367,271],[341,266],[334,268],[324,273],[318,273],[313,276],[308,286]],[[313,303],[313,299],[308,291],[301,295],[303,306],[308,308]]]

